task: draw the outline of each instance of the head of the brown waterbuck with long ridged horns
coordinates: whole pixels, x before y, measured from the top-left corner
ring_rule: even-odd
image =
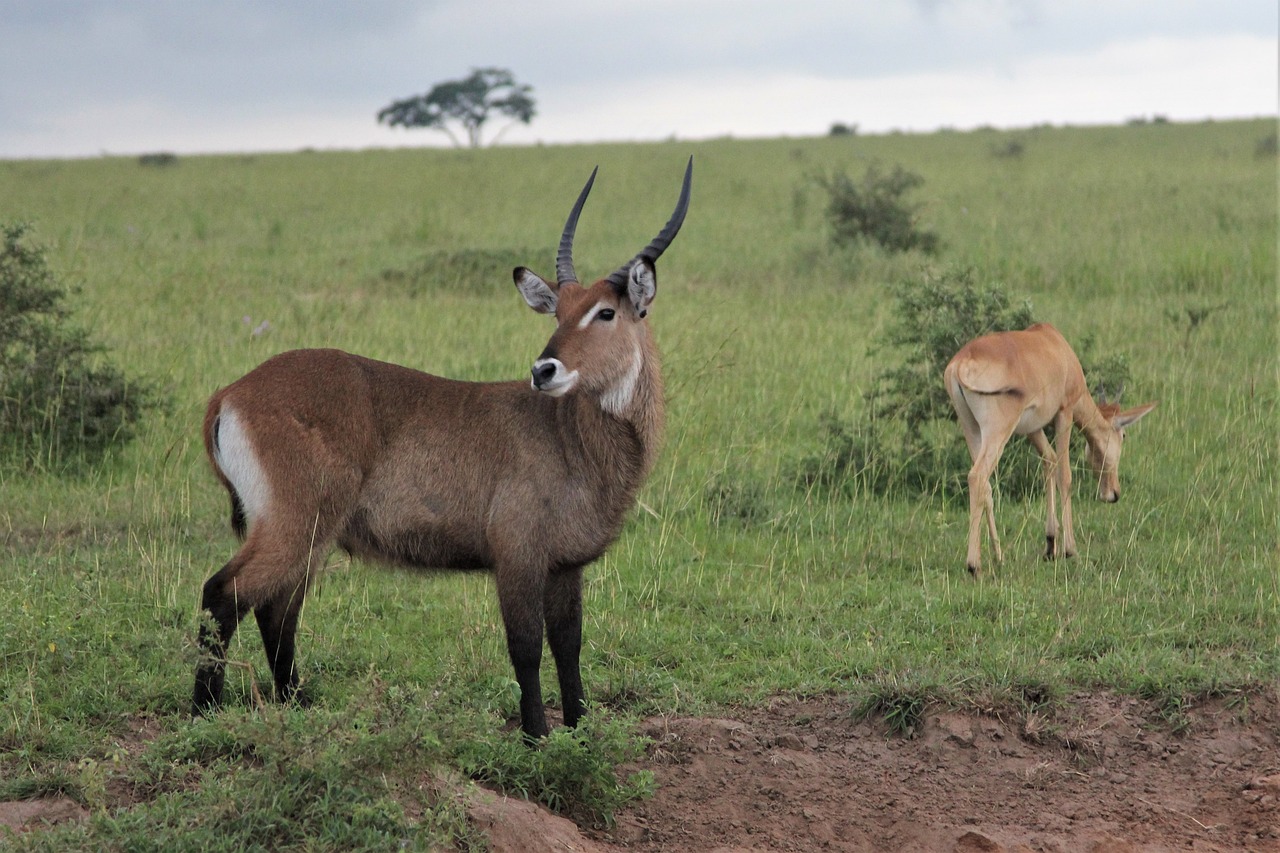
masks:
[[[676,210],[640,254],[608,278],[584,287],[573,270],[573,232],[595,182],[595,170],[564,223],[556,256],[556,283],[531,270],[515,269],[516,287],[531,309],[556,316],[556,332],[534,361],[531,384],[552,397],[581,392],[621,415],[631,403],[641,368],[652,356],[645,318],[658,289],[654,263],[680,232],[689,210],[694,160],[689,159]]]

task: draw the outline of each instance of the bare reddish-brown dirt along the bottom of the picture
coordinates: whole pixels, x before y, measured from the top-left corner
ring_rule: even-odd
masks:
[[[614,827],[488,792],[472,820],[498,853],[1280,852],[1280,689],[1180,726],[1101,694],[1052,719],[938,710],[911,738],[835,697],[644,730],[658,792]],[[69,800],[0,803],[0,827],[82,818]]]

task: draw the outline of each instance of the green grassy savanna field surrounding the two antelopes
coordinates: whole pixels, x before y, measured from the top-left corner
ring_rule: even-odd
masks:
[[[461,779],[607,812],[627,792],[564,768],[611,767],[639,715],[828,692],[851,712],[1025,707],[1110,688],[1176,724],[1196,697],[1274,683],[1277,182],[1274,142],[1260,151],[1274,133],[1266,119],[0,163],[0,222],[33,223],[81,286],[78,320],[173,401],[92,471],[0,480],[0,800],[64,792],[95,816],[23,844],[467,847]],[[1021,154],[997,156],[1009,142]],[[591,736],[530,757],[503,731],[517,690],[488,578],[340,555],[300,637],[317,707],[256,707],[269,672],[248,622],[229,710],[192,724],[200,587],[234,549],[200,444],[209,393],[300,346],[522,377],[550,327],[509,268],[553,272],[599,164],[575,260],[613,270],[664,222],[689,155],[692,206],[652,314],[667,443],[644,508],[588,574],[584,680],[607,708]],[[815,177],[872,163],[924,178],[913,200],[937,256],[831,246]],[[1006,558],[975,583],[963,494],[796,487],[823,420],[855,416],[892,357],[869,351],[888,286],[945,269],[1128,356],[1126,400],[1160,401],[1130,434],[1124,500],[1078,491],[1073,561],[1039,560],[1042,498],[997,497]]]

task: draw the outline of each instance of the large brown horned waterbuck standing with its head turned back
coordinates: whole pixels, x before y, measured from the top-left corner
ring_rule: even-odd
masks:
[[[667,225],[590,287],[561,237],[556,283],[516,287],[556,332],[531,380],[456,382],[338,350],[296,350],[216,392],[205,447],[230,493],[239,551],[204,587],[195,712],[223,693],[227,643],[253,611],[284,701],[298,689],[298,611],[333,544],[420,569],[494,573],[520,722],[545,735],[543,625],[563,719],[582,715],[582,569],[617,538],[663,429],[658,352],[645,316],[654,263],[689,209],[692,158]],[[247,533],[247,535],[246,535]]]

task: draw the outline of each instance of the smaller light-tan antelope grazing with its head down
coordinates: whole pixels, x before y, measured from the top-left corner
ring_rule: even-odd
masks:
[[[1098,475],[1098,498],[1115,503],[1120,500],[1119,465],[1124,430],[1156,403],[1128,411],[1105,401],[1102,406],[1096,405],[1084,386],[1080,360],[1066,338],[1048,323],[970,341],[951,359],[945,379],[973,456],[969,470],[969,571],[978,575],[982,570],[979,537],[984,515],[996,561],[1002,558],[991,500],[991,474],[1015,433],[1027,435],[1044,461],[1048,491],[1044,558],[1052,560],[1059,549],[1055,487],[1062,492],[1061,553],[1074,557],[1071,466],[1068,460],[1071,424],[1084,432],[1088,442],[1089,466]],[[1044,438],[1048,424],[1053,424],[1056,451]]]

